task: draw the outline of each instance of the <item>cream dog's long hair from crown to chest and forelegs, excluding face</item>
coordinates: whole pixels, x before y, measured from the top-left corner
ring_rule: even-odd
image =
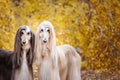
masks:
[[[48,22],[49,23],[49,22]],[[38,27],[36,33],[36,41],[35,41],[35,53],[36,53],[36,62],[39,65],[39,80],[60,80],[59,72],[58,72],[58,59],[56,54],[56,37],[55,31],[53,29],[52,24],[40,24],[39,26],[48,26],[49,34],[51,35],[49,41],[46,45],[44,45],[43,41],[40,37],[41,28]],[[46,59],[46,57],[49,57]],[[48,61],[48,62],[44,62]],[[44,66],[44,64],[46,64]],[[47,67],[49,66],[49,70]],[[44,66],[43,68],[41,68]],[[41,68],[41,69],[40,69]]]

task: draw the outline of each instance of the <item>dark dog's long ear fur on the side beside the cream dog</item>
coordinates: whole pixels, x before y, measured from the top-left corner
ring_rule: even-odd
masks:
[[[33,57],[34,57],[34,46],[35,46],[35,35],[31,31],[31,40],[30,40],[30,50],[27,53],[27,59],[28,59],[28,64],[31,66],[33,63]]]

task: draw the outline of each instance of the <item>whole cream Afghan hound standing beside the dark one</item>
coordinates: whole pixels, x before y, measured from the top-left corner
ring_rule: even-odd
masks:
[[[81,80],[81,57],[70,45],[56,46],[55,31],[49,21],[38,26],[35,53],[39,80]]]

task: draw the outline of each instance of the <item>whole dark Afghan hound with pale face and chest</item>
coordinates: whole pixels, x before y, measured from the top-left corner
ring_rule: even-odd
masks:
[[[2,58],[0,71],[2,69],[6,71],[0,72],[0,80],[33,79],[34,43],[33,31],[28,26],[21,26],[15,36],[14,51],[0,50],[0,58]]]

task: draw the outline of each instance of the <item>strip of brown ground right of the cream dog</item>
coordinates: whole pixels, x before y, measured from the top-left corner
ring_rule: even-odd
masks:
[[[116,73],[101,73],[99,71],[86,71],[82,72],[82,80],[120,80],[120,74]]]

